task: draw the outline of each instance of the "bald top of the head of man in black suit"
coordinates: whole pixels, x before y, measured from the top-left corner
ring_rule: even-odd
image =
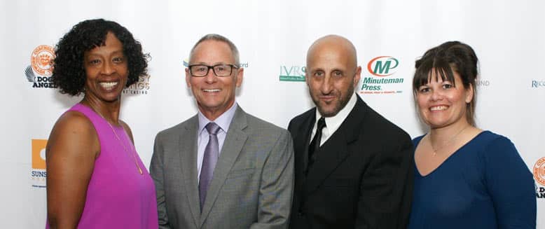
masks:
[[[339,54],[345,55],[349,59],[350,66],[355,68],[357,65],[357,53],[354,44],[343,36],[327,35],[317,39],[312,43],[310,48],[308,48],[307,66],[310,58],[319,58],[319,56],[326,51],[340,52]]]

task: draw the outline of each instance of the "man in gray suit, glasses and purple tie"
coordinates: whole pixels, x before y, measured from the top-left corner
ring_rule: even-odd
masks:
[[[223,36],[208,34],[191,50],[186,83],[198,114],[159,132],[151,158],[160,228],[287,228],[293,141],[237,105],[239,66]]]

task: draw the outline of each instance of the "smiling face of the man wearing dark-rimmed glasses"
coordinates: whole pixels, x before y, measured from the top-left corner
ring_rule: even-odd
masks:
[[[189,65],[235,64],[235,57],[228,44],[214,40],[199,43],[193,50],[190,60]],[[195,77],[186,69],[186,83],[197,100],[200,112],[209,120],[215,120],[230,109],[235,103],[236,88],[242,84],[243,73],[244,69],[233,68],[230,76],[219,77],[209,69],[206,76]]]

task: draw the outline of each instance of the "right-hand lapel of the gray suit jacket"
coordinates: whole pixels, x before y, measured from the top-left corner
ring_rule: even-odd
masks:
[[[202,223],[205,222],[210,210],[214,206],[219,190],[221,190],[223,183],[225,183],[231,167],[233,167],[235,164],[240,151],[242,151],[244,143],[248,139],[248,134],[244,132],[244,128],[246,127],[246,113],[242,111],[240,106],[237,106],[235,116],[233,116],[229,130],[227,131],[226,139],[223,141],[221,153],[219,155],[216,167],[214,168],[212,181],[208,187],[205,206],[203,207],[202,214],[200,216],[199,228],[202,227]],[[198,200],[198,197],[196,200]]]

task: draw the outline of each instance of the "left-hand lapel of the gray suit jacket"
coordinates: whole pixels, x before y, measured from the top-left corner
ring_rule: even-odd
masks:
[[[199,190],[197,181],[197,129],[198,118],[193,116],[184,132],[180,134],[179,148],[181,169],[184,174],[184,183],[186,187],[187,198],[195,225],[200,219]]]

